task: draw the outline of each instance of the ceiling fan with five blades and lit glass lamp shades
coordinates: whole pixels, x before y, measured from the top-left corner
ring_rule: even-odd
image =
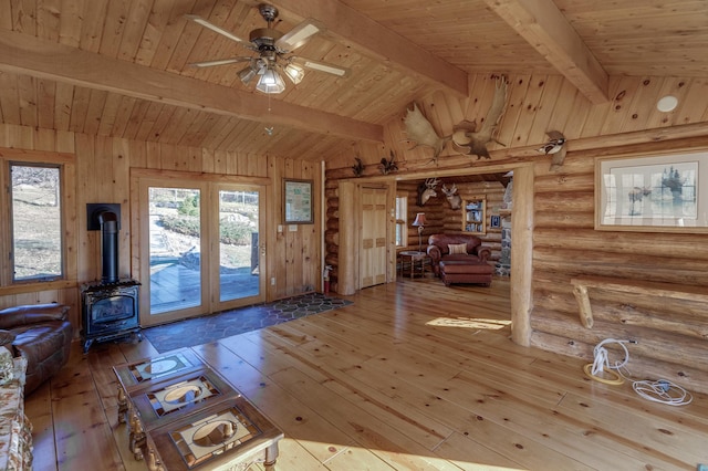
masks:
[[[326,62],[290,55],[292,51],[303,45],[312,35],[324,31],[324,27],[319,21],[306,19],[289,32],[282,33],[272,28],[273,21],[278,18],[278,9],[275,7],[261,3],[258,6],[258,11],[268,23],[268,27],[252,30],[248,41],[210,23],[199,15],[186,14],[185,17],[188,20],[258,52],[258,55],[253,56],[236,56],[216,61],[196,62],[189,65],[211,67],[215,65],[248,62],[248,65],[239,72],[239,78],[244,84],[248,84],[258,75],[259,80],[256,90],[263,93],[282,93],[285,90],[285,83],[281,74],[284,74],[295,85],[299,84],[304,77],[305,69],[326,72],[341,77],[348,75],[348,69]]]

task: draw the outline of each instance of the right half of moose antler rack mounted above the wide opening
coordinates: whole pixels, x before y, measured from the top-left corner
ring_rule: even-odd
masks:
[[[477,130],[477,122],[464,121],[452,128],[452,147],[466,155],[476,155],[477,159],[491,158],[487,144],[494,140],[493,134],[499,125],[499,119],[504,113],[507,104],[507,78],[501,76],[494,84],[494,97],[482,121],[482,126]],[[498,144],[498,140],[494,140]],[[501,144],[503,145],[503,144]]]

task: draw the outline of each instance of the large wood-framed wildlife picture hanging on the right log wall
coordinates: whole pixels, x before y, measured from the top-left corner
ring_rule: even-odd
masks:
[[[708,151],[597,159],[595,230],[708,232],[706,182]]]

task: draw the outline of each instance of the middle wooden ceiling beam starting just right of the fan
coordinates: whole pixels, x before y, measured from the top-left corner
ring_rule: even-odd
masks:
[[[337,0],[277,0],[273,3],[299,17],[322,21],[329,33],[354,44],[365,55],[456,95],[469,95],[467,72]]]

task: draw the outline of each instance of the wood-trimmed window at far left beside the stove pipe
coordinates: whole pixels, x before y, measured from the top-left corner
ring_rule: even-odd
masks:
[[[74,156],[69,154],[2,149],[0,182],[0,292],[46,290],[76,278],[74,253],[76,209],[67,207],[74,196]],[[52,282],[62,283],[60,285]],[[21,291],[17,291],[19,286]]]

